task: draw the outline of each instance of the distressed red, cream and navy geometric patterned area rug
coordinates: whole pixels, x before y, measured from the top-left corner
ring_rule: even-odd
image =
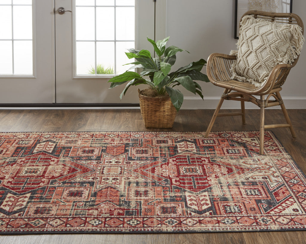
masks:
[[[272,132],[0,133],[0,233],[305,230]]]

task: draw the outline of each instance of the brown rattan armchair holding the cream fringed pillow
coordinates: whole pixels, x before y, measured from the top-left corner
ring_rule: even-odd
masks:
[[[248,11],[244,13],[245,15],[252,15],[255,18],[261,18],[268,21],[275,21],[279,23],[289,23],[297,24],[302,28],[302,34],[304,33],[303,22],[299,16],[293,13],[268,13],[262,11]],[[243,17],[242,16],[242,17]],[[241,19],[242,19],[241,17]],[[211,128],[218,116],[241,116],[242,124],[245,124],[245,112],[244,112],[244,102],[252,102],[260,107],[260,137],[259,137],[259,153],[264,154],[264,130],[271,128],[289,127],[293,137],[296,137],[293,126],[289,119],[288,113],[285,109],[285,105],[282,101],[280,91],[282,90],[282,85],[284,84],[289,71],[293,68],[298,60],[290,64],[278,64],[271,71],[267,80],[262,87],[257,88],[253,84],[248,82],[240,82],[237,80],[232,80],[232,73],[230,71],[233,61],[236,56],[226,55],[221,53],[213,53],[207,59],[207,76],[211,83],[216,86],[225,88],[218,106],[215,110],[213,117],[207,127],[205,137],[209,136]],[[260,99],[256,98],[260,96]],[[265,96],[267,97],[265,98]],[[273,99],[274,98],[274,99]],[[219,113],[223,101],[225,100],[235,100],[241,101],[241,113]],[[270,99],[273,99],[272,101]],[[287,124],[264,124],[264,109],[267,107],[280,105],[282,112],[284,113]]]

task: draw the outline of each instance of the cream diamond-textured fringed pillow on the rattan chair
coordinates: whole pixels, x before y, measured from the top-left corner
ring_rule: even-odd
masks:
[[[278,24],[248,15],[240,24],[238,51],[230,53],[237,56],[231,78],[256,87],[263,85],[275,65],[291,64],[305,41],[298,25]]]

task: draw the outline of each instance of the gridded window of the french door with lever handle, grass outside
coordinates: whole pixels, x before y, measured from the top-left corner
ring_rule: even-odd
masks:
[[[90,17],[82,16],[87,12],[92,13]],[[76,0],[75,13],[76,75],[115,75],[128,70],[128,65],[122,65],[134,62],[125,58],[124,52],[127,52],[126,48],[135,47],[135,1]],[[83,45],[78,45],[80,42]],[[84,43],[92,43],[94,49],[91,52],[94,53],[82,50]],[[81,62],[81,59],[88,60],[86,55],[94,56],[95,60],[91,64]]]

